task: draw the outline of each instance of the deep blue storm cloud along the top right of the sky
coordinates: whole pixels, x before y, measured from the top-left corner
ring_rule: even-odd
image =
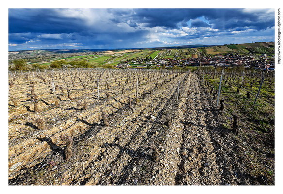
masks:
[[[239,26],[253,26],[257,30],[274,26],[274,12],[266,13],[265,9],[246,12],[244,9],[137,9],[134,12],[112,10],[117,14],[116,22],[131,18],[136,23],[145,23],[148,27],[163,26],[175,28],[178,23],[185,24],[190,19],[194,20],[204,16],[218,29],[229,29]],[[265,19],[259,21],[259,16],[266,15]],[[195,21],[195,26],[204,26],[205,22]]]

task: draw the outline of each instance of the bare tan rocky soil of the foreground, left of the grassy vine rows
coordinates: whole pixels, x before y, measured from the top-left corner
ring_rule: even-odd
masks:
[[[130,84],[122,94],[116,84],[109,90],[114,97],[103,96],[100,106],[93,96],[83,98],[86,110],[66,95],[66,104],[40,113],[10,106],[9,185],[266,184],[248,172],[243,141],[219,127],[215,100],[197,75],[182,72],[163,80],[141,82],[138,102]],[[43,118],[47,129],[27,121],[32,117]],[[69,160],[59,135],[73,139]]]

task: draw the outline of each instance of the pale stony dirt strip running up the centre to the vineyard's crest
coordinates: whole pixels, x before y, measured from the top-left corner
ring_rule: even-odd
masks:
[[[154,144],[160,150],[159,161],[152,156],[135,159],[122,183],[126,185],[219,185],[220,173],[208,130],[208,118],[202,101],[199,81],[190,74],[181,89],[178,105],[166,107],[172,125],[156,126]],[[166,113],[165,113],[166,114]],[[216,126],[210,115],[209,122]],[[158,137],[159,133],[163,133]],[[152,145],[149,144],[149,145]],[[152,151],[144,149],[141,152]]]

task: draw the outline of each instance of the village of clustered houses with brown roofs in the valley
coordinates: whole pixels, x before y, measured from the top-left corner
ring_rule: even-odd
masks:
[[[274,70],[274,57],[261,55],[240,55],[240,54],[217,54],[215,56],[202,56],[198,58],[180,58],[175,56],[174,58],[158,58],[155,59],[143,59],[137,58],[132,60],[121,61],[116,68],[130,68],[131,64],[140,64],[135,66],[136,68],[172,68],[187,67],[187,66],[212,66],[212,67],[244,67],[253,69],[268,69]]]

